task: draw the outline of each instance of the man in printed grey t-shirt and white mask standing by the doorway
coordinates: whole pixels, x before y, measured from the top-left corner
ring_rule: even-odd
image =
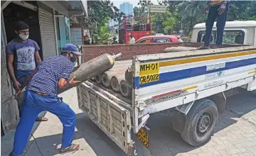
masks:
[[[14,89],[18,91],[24,79],[41,63],[41,58],[38,44],[28,38],[29,27],[27,23],[18,21],[15,26],[15,33],[17,37],[6,45],[6,55],[8,73],[14,84]],[[23,99],[18,98],[17,102],[19,116],[21,116]],[[48,119],[38,116],[36,121],[48,121]]]

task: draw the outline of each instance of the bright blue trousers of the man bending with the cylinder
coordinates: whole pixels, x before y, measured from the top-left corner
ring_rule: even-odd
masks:
[[[69,147],[71,145],[75,133],[75,112],[58,97],[41,96],[33,91],[26,90],[21,119],[14,136],[14,155],[22,155],[36,116],[41,111],[49,111],[58,116],[61,123],[63,123],[61,147]]]

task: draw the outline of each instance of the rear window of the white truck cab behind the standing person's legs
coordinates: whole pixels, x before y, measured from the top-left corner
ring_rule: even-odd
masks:
[[[206,34],[205,30],[198,33],[198,43],[203,43],[204,36]],[[217,31],[213,30],[210,43],[215,43],[217,39]],[[245,39],[245,32],[243,30],[224,30],[223,33],[223,43],[224,44],[243,44]]]

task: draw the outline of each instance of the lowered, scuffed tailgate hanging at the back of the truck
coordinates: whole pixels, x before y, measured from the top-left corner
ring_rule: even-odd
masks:
[[[132,153],[130,111],[86,83],[77,87],[79,108],[127,155]]]

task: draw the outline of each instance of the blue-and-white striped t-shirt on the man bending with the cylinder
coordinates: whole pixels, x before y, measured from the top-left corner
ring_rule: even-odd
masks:
[[[37,67],[38,72],[28,82],[26,89],[49,96],[57,96],[60,78],[69,79],[74,64],[63,55],[48,57]]]

